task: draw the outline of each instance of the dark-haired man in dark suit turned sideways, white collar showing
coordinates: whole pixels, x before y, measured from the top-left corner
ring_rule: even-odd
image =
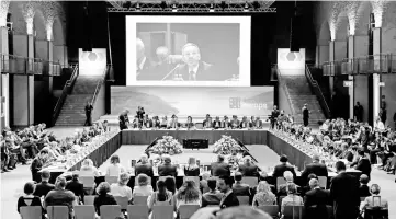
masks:
[[[233,207],[233,206],[239,206],[239,200],[237,196],[233,193],[233,178],[229,176],[220,176],[217,181],[218,188],[222,193],[224,193],[224,196],[220,200],[219,207],[222,209]]]

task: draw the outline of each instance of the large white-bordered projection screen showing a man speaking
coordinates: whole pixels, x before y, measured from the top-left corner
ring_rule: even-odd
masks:
[[[126,16],[126,85],[250,87],[250,16]]]

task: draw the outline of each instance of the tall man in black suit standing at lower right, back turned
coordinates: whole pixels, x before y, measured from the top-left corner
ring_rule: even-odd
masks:
[[[359,214],[359,181],[346,172],[342,161],[336,163],[338,175],[331,180],[330,197],[333,200],[335,219],[352,219]]]

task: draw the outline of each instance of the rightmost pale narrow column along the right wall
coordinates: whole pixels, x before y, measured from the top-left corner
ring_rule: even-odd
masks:
[[[373,55],[374,55],[374,70],[380,70],[380,55],[381,54],[381,27],[373,28]],[[375,117],[378,116],[381,107],[381,89],[380,89],[381,77],[378,73],[373,74],[373,124]]]

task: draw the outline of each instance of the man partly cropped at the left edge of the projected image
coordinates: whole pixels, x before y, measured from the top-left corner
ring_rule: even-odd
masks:
[[[150,80],[152,62],[146,57],[145,44],[136,38],[136,80]]]

